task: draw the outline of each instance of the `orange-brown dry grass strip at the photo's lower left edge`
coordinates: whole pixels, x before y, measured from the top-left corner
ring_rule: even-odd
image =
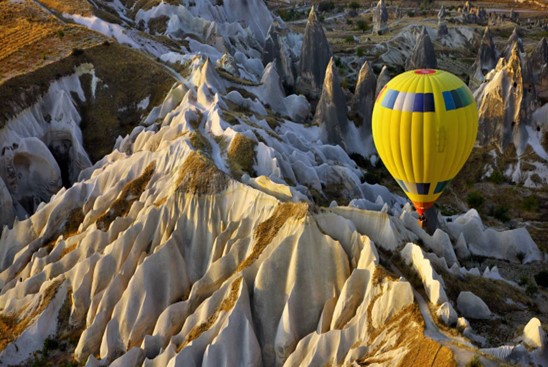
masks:
[[[39,296],[40,302],[38,307],[31,310],[28,314],[25,314],[24,311],[26,309],[23,309],[19,315],[0,315],[0,351],[16,340],[35,321],[35,318],[48,307],[61,283],[62,281],[58,280],[46,288]]]

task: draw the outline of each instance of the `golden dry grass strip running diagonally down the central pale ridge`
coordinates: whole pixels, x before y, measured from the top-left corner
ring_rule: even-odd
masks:
[[[253,249],[245,260],[238,265],[236,271],[242,271],[253,264],[288,220],[299,220],[304,218],[307,213],[307,203],[281,203],[278,205],[272,216],[255,228]]]

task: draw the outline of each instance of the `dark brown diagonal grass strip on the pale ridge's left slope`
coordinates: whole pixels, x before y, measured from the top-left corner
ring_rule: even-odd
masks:
[[[131,205],[139,199],[145,191],[148,182],[154,174],[155,163],[150,163],[141,176],[127,183],[110,208],[97,219],[97,228],[101,231],[108,231],[110,224],[118,217],[124,217],[129,212]]]

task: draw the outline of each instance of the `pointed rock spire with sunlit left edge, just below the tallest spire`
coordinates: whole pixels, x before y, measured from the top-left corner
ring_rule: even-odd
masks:
[[[325,71],[322,95],[316,107],[314,122],[320,126],[320,138],[324,143],[346,148],[343,141],[348,130],[346,101],[333,58],[329,60]]]

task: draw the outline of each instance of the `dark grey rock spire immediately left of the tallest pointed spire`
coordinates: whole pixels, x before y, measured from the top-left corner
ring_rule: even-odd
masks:
[[[278,22],[273,22],[268,29],[262,59],[265,66],[270,62],[274,62],[282,84],[286,89],[294,87],[295,70],[293,56],[287,46],[287,42],[284,42],[282,29]]]

